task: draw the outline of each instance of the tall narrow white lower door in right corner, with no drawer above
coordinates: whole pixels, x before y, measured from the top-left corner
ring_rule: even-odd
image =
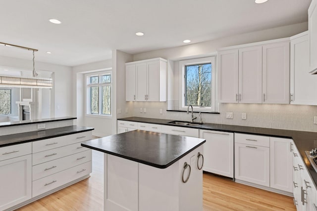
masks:
[[[270,187],[293,192],[292,139],[270,137]]]

